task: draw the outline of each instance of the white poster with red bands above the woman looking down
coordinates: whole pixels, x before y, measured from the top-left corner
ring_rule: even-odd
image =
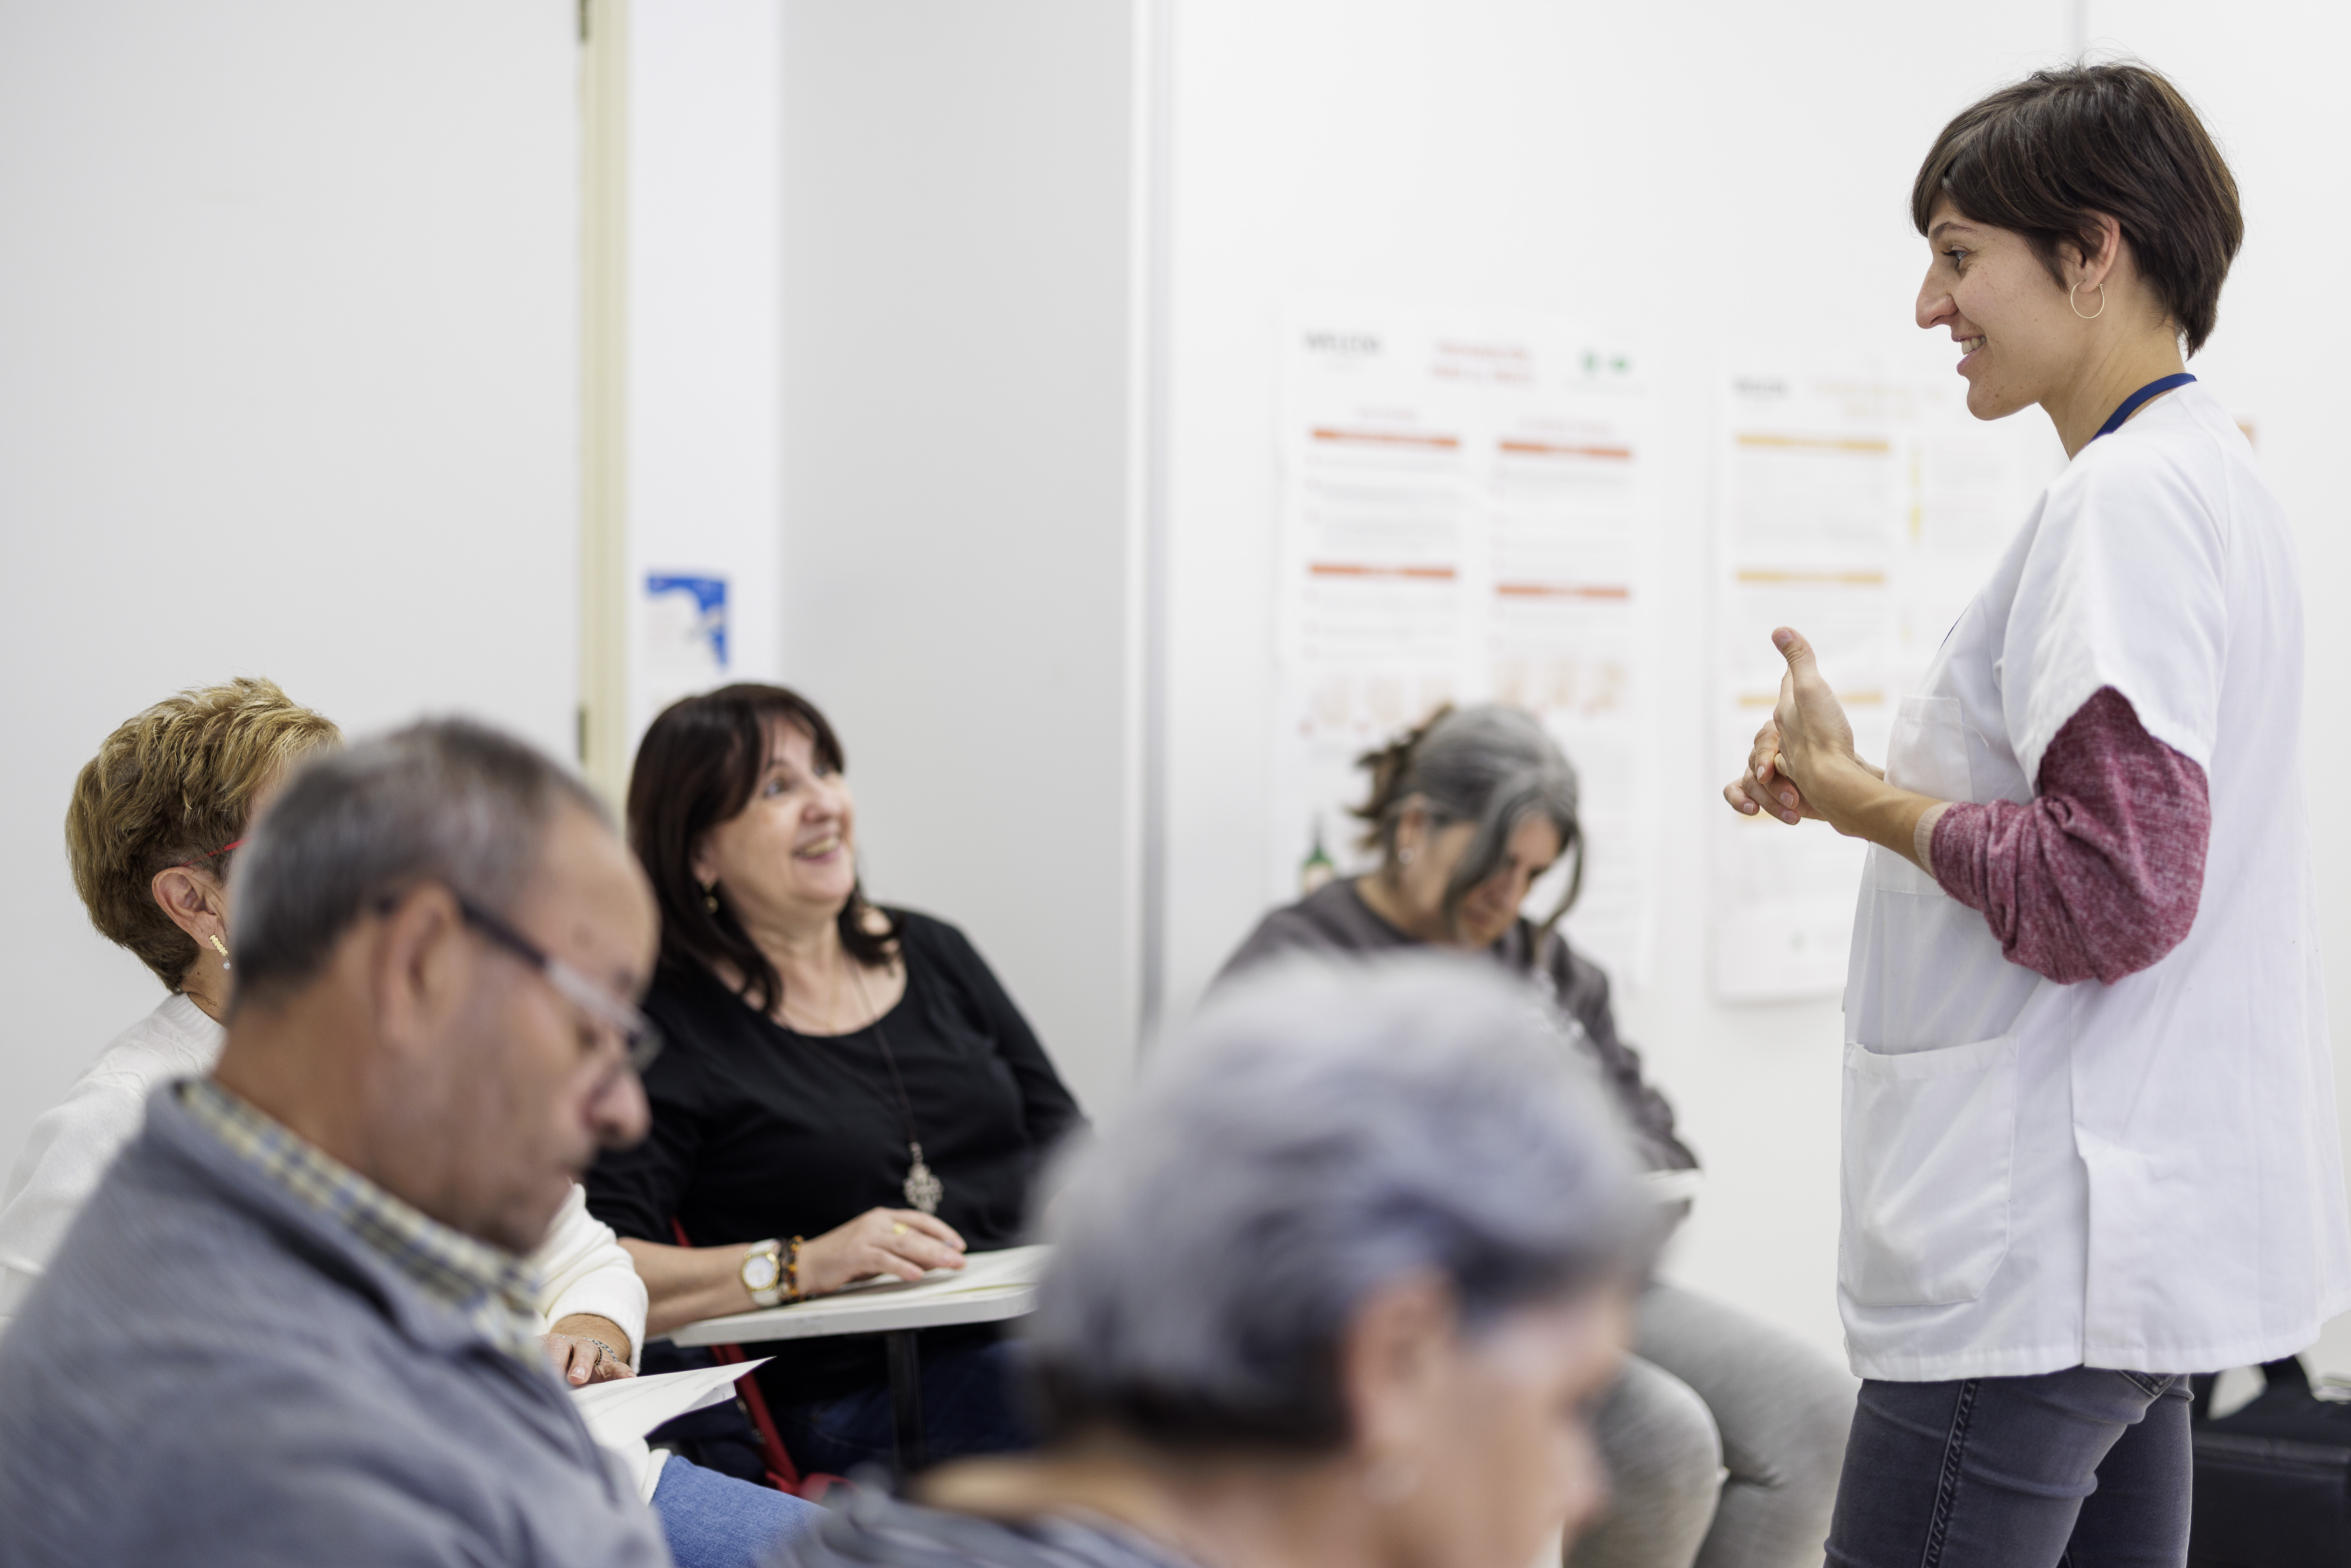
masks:
[[[1284,329],[1279,708],[1265,898],[1368,870],[1357,757],[1444,703],[1535,712],[1582,776],[1570,940],[1648,971],[1653,400],[1559,322],[1326,306]],[[1319,853],[1317,853],[1319,851]],[[1563,872],[1538,886],[1549,912]]]

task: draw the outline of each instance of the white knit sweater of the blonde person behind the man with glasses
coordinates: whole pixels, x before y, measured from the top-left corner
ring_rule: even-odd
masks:
[[[89,1072],[47,1110],[0,1190],[0,1333],[16,1316],[49,1258],[66,1239],[115,1154],[146,1124],[146,1100],[160,1084],[212,1072],[226,1032],[188,997],[172,994],[122,1030]],[[531,1253],[538,1312],[552,1326],[592,1312],[628,1333],[630,1356],[644,1342],[644,1281],[611,1227],[588,1213],[578,1182]]]

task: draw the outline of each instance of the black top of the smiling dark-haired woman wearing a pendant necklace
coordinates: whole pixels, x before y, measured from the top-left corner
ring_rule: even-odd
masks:
[[[1084,1126],[1034,1030],[955,926],[891,910],[905,997],[851,1034],[802,1034],[752,1011],[710,971],[663,969],[644,1011],[668,1041],[644,1074],[654,1131],[588,1173],[588,1208],[623,1237],[694,1246],[820,1237],[868,1208],[905,1208],[898,1063],[938,1218],[973,1248],[1016,1246],[1044,1154]],[[971,1338],[929,1331],[926,1342]],[[781,1403],[884,1378],[872,1335],[762,1345]]]

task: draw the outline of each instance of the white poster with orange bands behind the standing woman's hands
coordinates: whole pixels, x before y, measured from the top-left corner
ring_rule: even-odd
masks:
[[[1742,369],[1716,468],[1716,771],[1735,778],[1787,670],[1773,628],[1813,644],[1855,750],[1886,759],[1893,715],[2062,463],[2036,409],[1975,421],[1951,381],[1869,369]],[[1714,820],[1714,992],[1829,997],[1846,985],[1867,846],[1822,823]]]

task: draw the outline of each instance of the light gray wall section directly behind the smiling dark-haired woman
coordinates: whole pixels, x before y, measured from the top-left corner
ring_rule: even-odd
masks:
[[[1079,1098],[1136,1041],[1128,7],[783,5],[785,679],[868,886]]]

